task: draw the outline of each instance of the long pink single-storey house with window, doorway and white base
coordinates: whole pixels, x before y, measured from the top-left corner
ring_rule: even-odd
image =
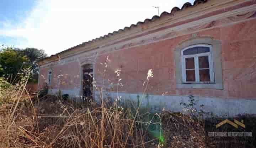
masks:
[[[113,98],[122,78],[119,95],[137,99],[153,69],[146,92],[155,110],[181,110],[180,102],[193,95],[196,104],[214,114],[254,114],[256,0],[196,0],[52,55],[39,65],[38,87],[48,83],[49,93],[61,90],[96,99],[92,75],[97,87],[104,86]]]

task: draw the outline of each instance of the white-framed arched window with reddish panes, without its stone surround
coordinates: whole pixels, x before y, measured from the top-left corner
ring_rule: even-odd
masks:
[[[214,83],[212,46],[199,44],[181,51],[183,83]]]

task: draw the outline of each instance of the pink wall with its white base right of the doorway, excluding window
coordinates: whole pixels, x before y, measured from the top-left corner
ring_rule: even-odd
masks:
[[[115,51],[99,56],[95,79],[102,81],[106,56],[110,58],[106,71],[106,90],[116,98],[117,77],[115,70],[121,69],[120,96],[137,101],[143,92],[146,73],[153,69],[154,77],[146,91],[152,110],[181,111],[180,102],[195,96],[197,107],[204,104],[204,110],[219,116],[256,114],[256,20],[197,32],[197,36],[210,36],[222,42],[223,90],[177,89],[174,50],[177,45],[192,38],[193,34],[179,36],[151,44]],[[111,82],[113,84],[111,84]],[[163,97],[162,94],[165,94]]]

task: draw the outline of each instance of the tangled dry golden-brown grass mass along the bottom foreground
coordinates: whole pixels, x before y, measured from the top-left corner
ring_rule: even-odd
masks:
[[[17,91],[17,93],[21,92],[22,89]],[[159,119],[162,119],[162,122],[159,120],[152,122],[151,117],[145,121],[143,117],[146,115],[140,114],[138,109],[132,110],[126,107],[122,110],[114,105],[117,104],[113,103],[108,107],[105,103],[101,106],[93,103],[78,106],[74,102],[61,101],[56,96],[22,99],[17,95],[13,103],[5,103],[1,106],[1,147],[151,148],[182,146],[177,139],[173,140],[170,137],[180,130],[186,134],[186,126],[183,128],[170,126],[175,123],[171,120],[170,114],[160,114]],[[187,124],[183,122],[183,119],[185,118],[177,119],[182,121],[178,125]],[[163,125],[163,128],[156,127],[163,133],[152,133],[154,130],[150,130],[150,127],[154,124],[159,125],[159,123]],[[190,127],[187,131],[192,133],[188,130]],[[183,139],[186,145],[202,142],[193,140],[186,142],[182,135],[179,138]],[[198,140],[198,137],[194,139]],[[194,145],[194,147],[198,146],[198,144]]]

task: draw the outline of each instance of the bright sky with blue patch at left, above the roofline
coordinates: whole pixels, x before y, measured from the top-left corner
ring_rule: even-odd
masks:
[[[193,0],[0,0],[0,45],[55,54]],[[135,5],[136,4],[136,5]]]

